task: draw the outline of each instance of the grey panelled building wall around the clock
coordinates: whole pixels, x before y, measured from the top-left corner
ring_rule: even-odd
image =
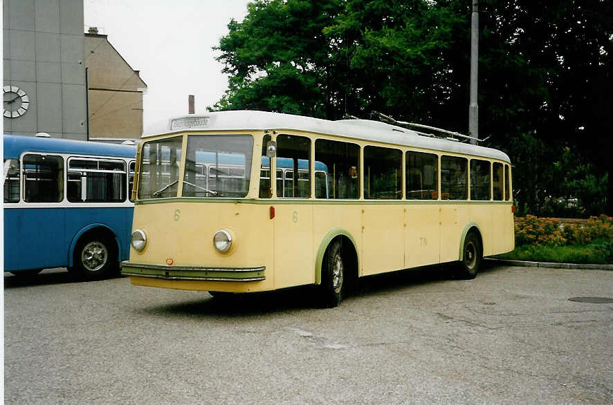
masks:
[[[83,0],[4,0],[3,47],[4,85],[30,99],[5,133],[85,140]]]

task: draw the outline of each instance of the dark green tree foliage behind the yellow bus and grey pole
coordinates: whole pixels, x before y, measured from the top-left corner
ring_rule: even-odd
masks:
[[[216,48],[229,85],[211,109],[381,111],[466,132],[471,3],[253,1]],[[606,0],[479,2],[479,133],[511,156],[523,211],[542,214],[569,192],[551,187],[563,166],[576,190],[606,194],[613,214],[612,15]],[[604,204],[574,192],[585,215]]]

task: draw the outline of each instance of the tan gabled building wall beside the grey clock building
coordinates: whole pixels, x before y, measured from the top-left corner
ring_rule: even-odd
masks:
[[[84,38],[89,87],[90,138],[140,138],[147,88],[109,42],[107,35]]]

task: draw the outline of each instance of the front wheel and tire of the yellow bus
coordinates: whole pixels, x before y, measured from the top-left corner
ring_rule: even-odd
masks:
[[[345,262],[342,257],[340,240],[329,245],[322,263],[322,283],[320,285],[320,300],[323,308],[336,308],[342,300],[345,290]]]

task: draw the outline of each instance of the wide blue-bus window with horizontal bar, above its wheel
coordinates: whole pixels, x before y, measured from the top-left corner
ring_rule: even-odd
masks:
[[[121,203],[126,199],[125,162],[98,159],[68,160],[68,201]]]

